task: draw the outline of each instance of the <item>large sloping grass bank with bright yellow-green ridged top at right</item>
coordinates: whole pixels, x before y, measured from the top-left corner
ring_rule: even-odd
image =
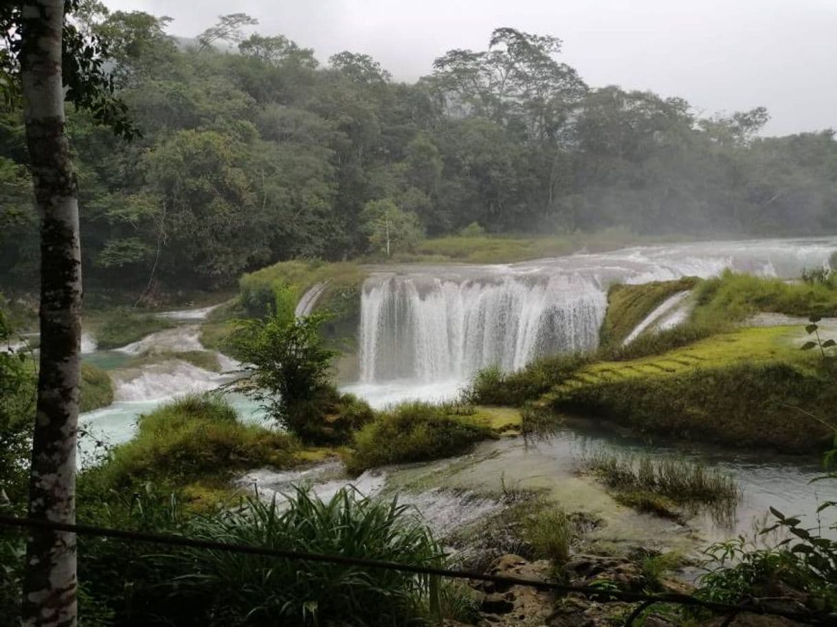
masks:
[[[821,451],[837,390],[798,349],[798,329],[740,329],[667,353],[597,362],[535,405],[593,415],[639,431],[731,446]]]

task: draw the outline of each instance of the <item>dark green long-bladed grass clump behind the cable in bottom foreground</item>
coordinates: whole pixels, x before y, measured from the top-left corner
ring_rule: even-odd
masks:
[[[442,549],[408,507],[348,489],[197,517],[191,538],[443,568]],[[438,579],[393,570],[203,549],[152,558],[170,573],[172,624],[408,625],[438,614]],[[197,615],[193,615],[197,614]]]

